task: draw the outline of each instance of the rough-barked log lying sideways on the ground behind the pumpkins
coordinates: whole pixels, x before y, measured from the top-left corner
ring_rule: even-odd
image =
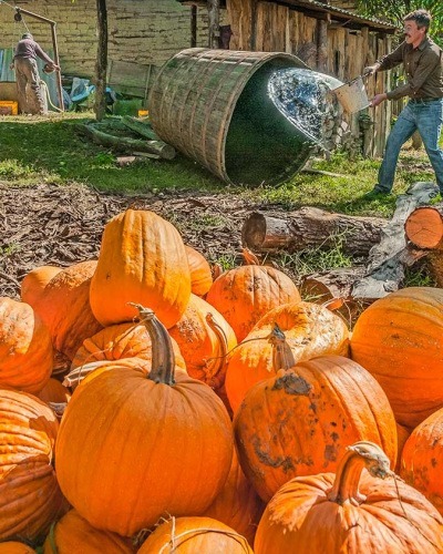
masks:
[[[313,207],[290,212],[286,219],[254,212],[243,225],[241,240],[251,250],[268,253],[333,248],[340,242],[344,254],[368,256],[373,244],[380,242],[385,224],[383,218],[332,214]]]

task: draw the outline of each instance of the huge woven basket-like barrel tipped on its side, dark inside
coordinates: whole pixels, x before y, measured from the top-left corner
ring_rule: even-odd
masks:
[[[226,183],[281,183],[315,147],[269,96],[269,78],[286,68],[306,64],[284,52],[183,50],[153,83],[152,126]]]

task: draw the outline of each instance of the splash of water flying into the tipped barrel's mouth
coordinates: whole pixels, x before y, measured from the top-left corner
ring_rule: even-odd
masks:
[[[330,92],[343,83],[308,69],[278,70],[269,79],[268,94],[276,107],[322,150],[324,129],[337,119],[339,102]]]

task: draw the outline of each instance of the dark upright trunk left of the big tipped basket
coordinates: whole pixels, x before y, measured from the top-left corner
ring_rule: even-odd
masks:
[[[97,57],[95,62],[95,119],[102,121],[106,113],[107,69],[107,9],[106,0],[96,0]]]

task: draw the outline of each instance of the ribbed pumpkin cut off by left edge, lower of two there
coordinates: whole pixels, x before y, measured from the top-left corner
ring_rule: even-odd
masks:
[[[0,542],[38,543],[64,513],[52,466],[58,430],[44,402],[0,389]]]

